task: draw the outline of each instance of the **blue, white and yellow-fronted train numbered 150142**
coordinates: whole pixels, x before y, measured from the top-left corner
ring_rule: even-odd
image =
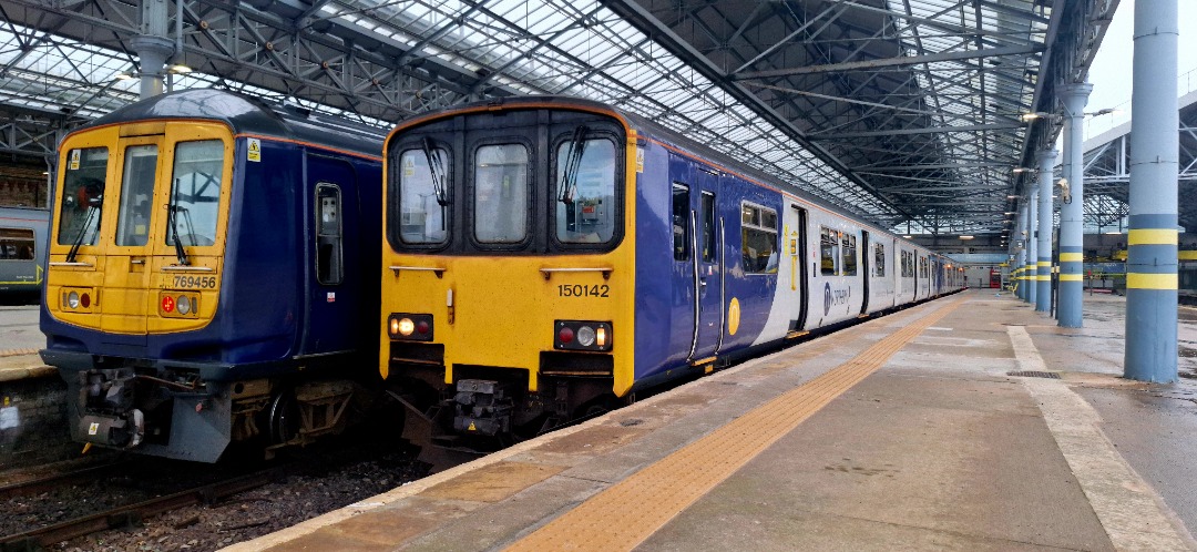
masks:
[[[946,257],[600,103],[419,116],[384,163],[381,374],[443,447],[499,447],[965,285]]]

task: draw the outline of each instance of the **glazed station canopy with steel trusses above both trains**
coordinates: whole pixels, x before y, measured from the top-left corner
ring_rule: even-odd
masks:
[[[1055,85],[1083,81],[1118,0],[6,0],[8,150],[168,86],[378,127],[487,97],[598,99],[899,233],[1001,233]],[[181,23],[181,24],[178,24]],[[180,32],[181,31],[181,32]],[[181,69],[181,68],[180,68]],[[129,77],[134,77],[129,79]]]

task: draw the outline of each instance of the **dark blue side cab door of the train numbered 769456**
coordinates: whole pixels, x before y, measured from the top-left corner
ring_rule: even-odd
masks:
[[[354,348],[359,328],[347,320],[363,320],[361,290],[348,289],[358,251],[346,245],[358,242],[357,205],[350,194],[357,193],[357,175],[342,159],[308,156],[308,178],[311,208],[305,228],[309,262],[305,273],[308,315],[303,336],[305,353],[329,353]],[[366,316],[369,319],[369,316]]]

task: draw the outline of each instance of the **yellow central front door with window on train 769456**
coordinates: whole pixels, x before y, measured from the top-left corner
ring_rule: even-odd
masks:
[[[154,205],[164,205],[157,183],[163,181],[159,158],[165,142],[164,126],[136,128],[152,132],[144,135],[122,135],[116,148],[119,174],[115,194],[109,187],[104,201],[116,207],[115,232],[104,256],[104,286],[101,293],[99,327],[110,340],[127,345],[146,344],[148,316],[157,313],[157,295],[152,295],[153,253],[160,241],[157,231],[163,224]],[[168,187],[163,187],[168,188]],[[102,243],[103,243],[102,237]],[[116,335],[121,335],[116,338]]]

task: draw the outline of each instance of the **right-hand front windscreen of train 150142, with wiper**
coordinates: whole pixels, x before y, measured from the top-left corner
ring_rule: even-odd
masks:
[[[615,144],[606,138],[563,141],[557,148],[557,239],[608,243],[615,236]]]

